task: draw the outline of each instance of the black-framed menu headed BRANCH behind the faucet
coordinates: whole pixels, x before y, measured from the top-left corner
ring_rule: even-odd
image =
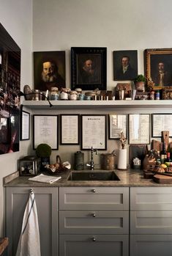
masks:
[[[106,115],[83,114],[81,115],[81,149],[106,150]]]

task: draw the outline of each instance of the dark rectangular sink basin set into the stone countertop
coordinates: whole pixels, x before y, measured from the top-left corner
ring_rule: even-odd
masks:
[[[72,171],[67,180],[119,180],[113,171]]]

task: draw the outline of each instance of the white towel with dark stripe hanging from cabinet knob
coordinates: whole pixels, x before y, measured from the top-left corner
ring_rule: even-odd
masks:
[[[15,256],[41,256],[37,205],[32,190],[24,212],[18,250]]]

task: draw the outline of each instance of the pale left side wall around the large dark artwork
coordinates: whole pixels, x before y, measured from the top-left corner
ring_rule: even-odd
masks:
[[[21,49],[21,89],[31,84],[32,1],[0,1],[0,22]],[[4,226],[4,189],[2,178],[17,170],[17,160],[26,156],[30,142],[20,142],[20,152],[0,156],[0,237]]]

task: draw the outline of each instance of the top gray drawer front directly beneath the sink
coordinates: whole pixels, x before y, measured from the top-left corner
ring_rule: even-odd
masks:
[[[129,188],[61,187],[60,210],[118,210],[129,208]]]

